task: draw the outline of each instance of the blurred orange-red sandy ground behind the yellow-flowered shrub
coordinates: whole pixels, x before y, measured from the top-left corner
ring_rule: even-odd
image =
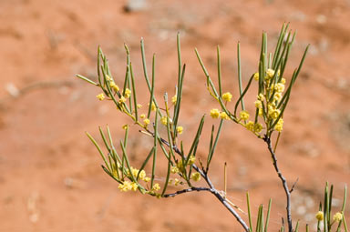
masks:
[[[336,210],[350,182],[349,0],[1,0],[0,231],[241,231],[207,193],[167,199],[120,193],[100,168],[98,152],[84,132],[98,138],[98,126],[108,124],[118,142],[121,126],[129,121],[110,102],[98,101],[98,88],[75,75],[96,78],[101,45],[121,85],[127,43],[139,99],[145,104],[142,98],[148,93],[139,50],[143,37],[149,71],[151,56],[157,55],[156,95],[161,99],[167,91],[172,96],[180,32],[187,64],[181,137],[189,141],[201,115],[217,106],[206,92],[194,47],[215,79],[215,49],[221,46],[224,91],[236,99],[237,42],[246,83],[257,69],[262,31],[272,48],[283,22],[291,22],[298,32],[287,80],[306,45],[311,48],[285,113],[277,153],[289,184],[299,177],[293,218],[314,229],[324,183],[335,184]],[[254,97],[250,93],[247,102]],[[208,118],[199,156],[205,157],[212,123],[217,121]],[[132,165],[139,166],[151,141],[139,135],[136,126],[130,129],[129,155]],[[256,215],[259,204],[267,206],[272,197],[270,227],[277,230],[285,215],[285,197],[263,142],[227,123],[211,166],[218,188],[225,161],[232,202],[245,210],[249,191]],[[161,185],[163,173],[158,173]],[[349,207],[346,213],[349,218]]]

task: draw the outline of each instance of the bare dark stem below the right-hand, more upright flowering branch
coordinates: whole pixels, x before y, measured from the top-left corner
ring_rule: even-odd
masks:
[[[285,177],[283,177],[283,175],[282,175],[282,173],[280,171],[280,168],[277,165],[277,158],[276,158],[276,155],[274,154],[274,151],[273,151],[273,146],[271,144],[271,138],[266,136],[264,138],[264,141],[266,142],[267,147],[268,147],[268,149],[270,151],[270,154],[271,154],[271,156],[273,158],[274,170],[277,172],[278,177],[282,181],[282,185],[283,185],[283,189],[284,189],[284,192],[285,192],[285,196],[287,197],[286,210],[287,210],[288,231],[289,232],[293,232],[292,211],[291,211],[291,191],[288,188],[287,180],[285,179]]]

